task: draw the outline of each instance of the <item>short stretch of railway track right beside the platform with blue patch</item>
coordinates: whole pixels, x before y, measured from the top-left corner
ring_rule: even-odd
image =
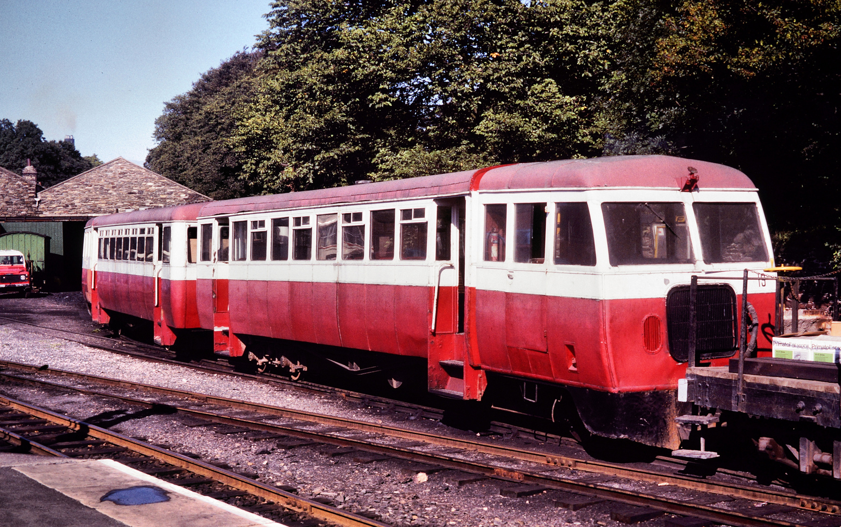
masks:
[[[257,514],[283,509],[292,524],[319,519],[346,527],[387,527],[377,519],[302,498],[282,488],[168,451],[145,441],[88,424],[45,408],[0,396],[0,451],[42,456],[107,457],[211,498],[223,499]],[[312,524],[312,522],[310,522]]]

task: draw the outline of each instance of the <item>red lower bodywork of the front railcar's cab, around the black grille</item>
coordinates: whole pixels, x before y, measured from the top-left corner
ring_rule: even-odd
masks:
[[[773,320],[773,293],[749,300],[760,324]],[[589,300],[477,290],[469,308],[476,314],[479,361],[491,371],[611,392],[674,389],[684,376],[685,363],[669,354],[664,298]],[[654,350],[644,339],[651,315],[660,321]],[[759,335],[760,352],[769,349],[767,337]]]

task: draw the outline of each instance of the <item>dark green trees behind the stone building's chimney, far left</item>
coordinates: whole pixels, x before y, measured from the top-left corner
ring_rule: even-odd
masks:
[[[13,124],[0,119],[0,166],[20,174],[27,159],[38,171],[42,187],[52,187],[93,167],[70,143],[45,140],[32,121]]]

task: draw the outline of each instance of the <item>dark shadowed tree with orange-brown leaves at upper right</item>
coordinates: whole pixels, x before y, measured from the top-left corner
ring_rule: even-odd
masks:
[[[615,6],[606,150],[736,166],[758,185],[776,230],[841,224],[841,2]]]

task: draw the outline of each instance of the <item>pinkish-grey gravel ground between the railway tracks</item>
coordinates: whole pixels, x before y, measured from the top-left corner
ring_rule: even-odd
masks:
[[[75,295],[75,296],[74,296]],[[0,315],[3,303],[0,298]],[[84,309],[80,293],[60,294],[35,299],[45,312]],[[16,302],[16,303],[17,303]],[[11,308],[9,308],[11,310]],[[53,320],[30,321],[52,327],[79,330],[85,317],[61,315]],[[87,330],[92,329],[88,326]],[[40,335],[21,324],[0,320],[0,359],[24,362],[71,372],[84,372],[161,387],[172,387],[237,398],[257,403],[363,419],[415,430],[447,428],[426,419],[412,419],[399,414],[359,408],[341,398],[300,393],[267,386],[248,379],[197,372],[175,365],[142,361],[96,350],[66,340]],[[59,382],[72,382],[62,379]],[[554,506],[548,491],[526,498],[500,496],[500,482],[485,479],[458,487],[448,482],[447,472],[412,477],[406,462],[399,460],[363,462],[353,456],[326,455],[324,445],[308,445],[284,450],[274,440],[249,440],[246,434],[220,434],[214,427],[185,424],[177,415],[149,415],[142,408],[114,399],[89,397],[61,389],[44,389],[0,382],[0,391],[10,397],[39,404],[78,419],[90,419],[125,435],[142,437],[153,444],[167,445],[174,451],[192,452],[205,461],[224,461],[232,470],[254,472],[262,482],[293,485],[305,497],[327,498],[352,512],[377,514],[389,524],[412,525],[618,525],[610,518],[616,503],[599,503],[571,512]],[[467,434],[448,429],[453,434]],[[571,471],[574,472],[574,471]],[[649,520],[646,525],[661,527],[664,519]]]

